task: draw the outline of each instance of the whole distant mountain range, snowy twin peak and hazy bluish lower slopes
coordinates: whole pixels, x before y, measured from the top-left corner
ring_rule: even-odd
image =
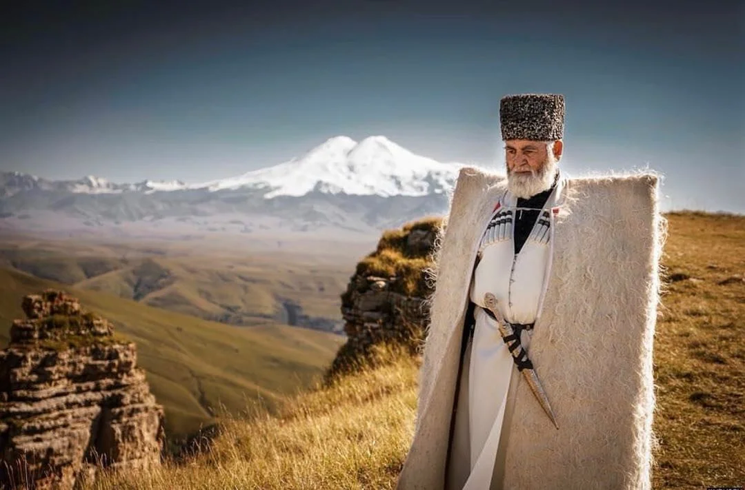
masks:
[[[0,230],[369,236],[446,211],[446,191],[462,166],[416,155],[384,136],[337,136],[289,162],[196,184],[6,172]]]

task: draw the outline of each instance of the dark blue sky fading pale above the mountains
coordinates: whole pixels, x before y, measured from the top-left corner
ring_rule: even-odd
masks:
[[[743,2],[516,3],[16,11],[0,26],[0,169],[198,182],[337,135],[501,168],[499,98],[559,92],[570,173],[648,162],[666,207],[745,211]]]

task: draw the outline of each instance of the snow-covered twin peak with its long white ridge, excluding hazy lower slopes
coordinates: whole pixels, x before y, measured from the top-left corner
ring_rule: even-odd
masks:
[[[359,142],[348,136],[335,136],[288,162],[199,184],[150,179],[118,184],[92,175],[78,180],[47,182],[43,179],[37,181],[37,177],[27,174],[13,173],[4,174],[2,187],[6,195],[31,188],[77,194],[249,188],[262,191],[267,199],[313,192],[421,196],[440,194],[453,185],[461,166],[416,155],[385,136],[369,136]]]

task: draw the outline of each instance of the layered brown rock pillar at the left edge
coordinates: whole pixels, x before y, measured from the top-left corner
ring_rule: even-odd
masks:
[[[163,408],[134,343],[77,299],[26,296],[0,352],[0,481],[72,489],[97,468],[159,464]]]

